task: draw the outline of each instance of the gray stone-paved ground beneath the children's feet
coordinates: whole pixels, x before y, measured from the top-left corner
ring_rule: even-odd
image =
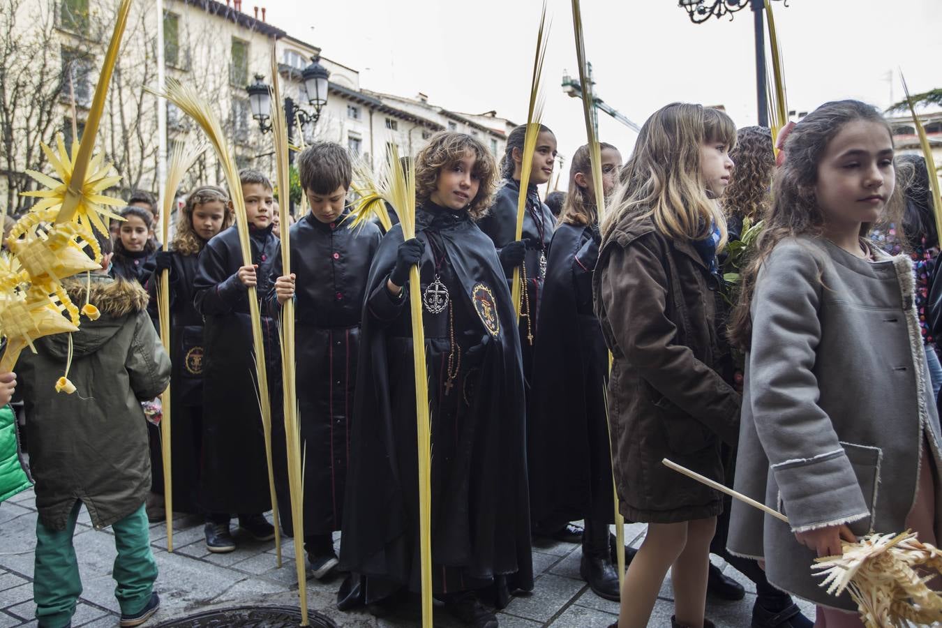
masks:
[[[36,509],[32,491],[16,495],[0,504],[0,628],[35,626],[33,598],[33,548],[36,546]],[[83,508],[75,528],[74,545],[78,555],[84,592],[73,617],[73,626],[110,628],[118,624],[120,612],[114,598],[111,566],[115,557],[110,528],[94,530]],[[282,567],[276,566],[274,542],[260,543],[235,533],[238,548],[231,554],[210,554],[203,542],[203,522],[180,515],[173,523],[174,552],[167,552],[163,523],[151,526],[151,545],[160,570],[155,590],[161,609],[147,625],[179,618],[214,607],[252,604],[296,606],[297,578],[291,539],[282,544]],[[636,546],[643,539],[644,526],[625,526],[625,539]],[[617,620],[618,604],[597,597],[579,578],[581,550],[577,544],[540,542],[534,547],[533,572],[536,587],[526,596],[515,597],[498,614],[502,628],[607,628]],[[714,560],[719,560],[714,556]],[[722,562],[718,564],[723,564]],[[726,567],[730,575],[749,591],[741,602],[707,602],[707,617],[717,626],[748,627],[755,600],[755,587],[739,572]],[[338,626],[417,628],[417,611],[401,611],[394,617],[377,620],[363,612],[343,613],[335,605],[340,578],[328,582],[308,580],[308,606]],[[649,625],[670,626],[673,610],[670,583],[661,589]],[[813,613],[802,603],[805,613]],[[813,614],[810,617],[814,617]],[[437,613],[435,625],[458,628],[460,624]]]

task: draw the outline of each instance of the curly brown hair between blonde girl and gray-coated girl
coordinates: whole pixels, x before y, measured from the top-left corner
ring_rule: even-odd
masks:
[[[764,126],[739,129],[736,147],[729,152],[729,158],[736,167],[722,199],[726,216],[755,222],[769,210],[771,201],[769,186],[775,169],[771,130]]]

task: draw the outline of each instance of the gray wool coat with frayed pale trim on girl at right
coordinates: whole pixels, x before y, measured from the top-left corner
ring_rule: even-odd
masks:
[[[902,532],[916,501],[922,443],[940,468],[938,415],[906,255],[859,259],[823,238],[783,240],[759,272],[746,354],[728,549],[766,561],[772,585],[845,610],[795,532],[847,523]],[[936,491],[940,485],[936,478]],[[942,494],[935,495],[935,534]]]

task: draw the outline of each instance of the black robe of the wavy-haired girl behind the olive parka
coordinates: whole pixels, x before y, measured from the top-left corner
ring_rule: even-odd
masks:
[[[202,512],[200,463],[203,442],[203,316],[193,305],[198,254],[171,251],[171,471],[173,509]],[[157,274],[147,280],[147,311],[159,327]],[[151,491],[163,494],[163,458],[159,439],[151,441]]]

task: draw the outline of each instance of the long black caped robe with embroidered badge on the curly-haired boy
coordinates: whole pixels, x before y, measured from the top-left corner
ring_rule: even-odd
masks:
[[[437,274],[449,293],[441,314],[423,309],[433,588],[510,580],[529,590],[523,373],[510,291],[493,244],[465,212],[426,208],[416,211],[417,237],[427,244],[420,289],[434,280],[438,250]],[[393,227],[369,272],[340,554],[345,569],[365,578],[345,583],[341,608],[402,587],[420,590],[411,313],[406,290],[394,298],[386,288],[401,242],[401,226]],[[461,353],[449,364],[451,316]]]

